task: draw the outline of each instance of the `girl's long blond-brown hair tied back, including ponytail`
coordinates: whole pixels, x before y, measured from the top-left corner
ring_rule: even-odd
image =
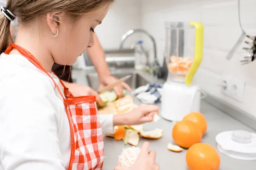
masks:
[[[100,8],[108,8],[114,0],[7,0],[6,9],[12,12],[18,23],[29,23],[36,17],[54,12],[66,12],[74,19]],[[58,16],[54,20],[58,21]],[[0,54],[13,42],[11,21],[0,12]]]

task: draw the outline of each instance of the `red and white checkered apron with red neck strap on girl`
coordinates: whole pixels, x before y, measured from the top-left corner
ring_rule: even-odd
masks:
[[[5,54],[16,48],[20,54],[29,59],[35,66],[47,74],[55,84],[64,101],[65,110],[70,123],[71,155],[68,170],[102,170],[104,159],[103,136],[99,122],[95,96],[73,97],[64,87],[64,95],[60,88],[42,67],[42,65],[24,48],[11,44]]]

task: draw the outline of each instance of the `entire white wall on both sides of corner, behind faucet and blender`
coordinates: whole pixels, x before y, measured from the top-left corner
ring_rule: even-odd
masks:
[[[250,35],[256,35],[253,11],[256,11],[256,0],[241,0],[241,22]],[[155,37],[157,56],[162,63],[166,21],[204,24],[204,58],[196,82],[209,94],[256,116],[256,62],[240,65],[244,43],[231,60],[225,58],[241,34],[237,0],[117,0],[96,32],[104,48],[116,48],[128,29],[144,28]],[[147,46],[151,48],[150,41]],[[221,93],[218,84],[222,74],[246,82],[243,103]]]

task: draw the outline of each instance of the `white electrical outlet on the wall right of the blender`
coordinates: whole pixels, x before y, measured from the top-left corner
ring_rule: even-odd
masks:
[[[237,79],[234,76],[222,76],[222,91],[225,95],[236,99],[239,102],[244,101],[244,87],[245,82],[241,79]]]

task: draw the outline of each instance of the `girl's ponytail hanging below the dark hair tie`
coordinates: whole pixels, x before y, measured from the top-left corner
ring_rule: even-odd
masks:
[[[10,25],[11,20],[0,11],[0,54],[13,42]]]

